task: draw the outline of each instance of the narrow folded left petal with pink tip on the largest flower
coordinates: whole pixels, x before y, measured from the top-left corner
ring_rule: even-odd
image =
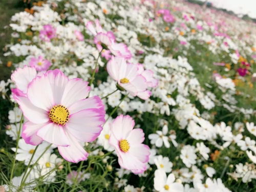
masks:
[[[27,97],[14,95],[14,99],[17,101],[19,108],[29,121],[33,123],[46,123],[49,121],[47,112],[37,108]]]

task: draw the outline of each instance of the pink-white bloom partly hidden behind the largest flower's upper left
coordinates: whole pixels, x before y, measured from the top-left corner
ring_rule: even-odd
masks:
[[[26,96],[28,91],[28,84],[36,77],[35,68],[25,66],[24,68],[16,69],[12,75],[11,80],[15,83],[16,88],[11,89],[12,94]]]

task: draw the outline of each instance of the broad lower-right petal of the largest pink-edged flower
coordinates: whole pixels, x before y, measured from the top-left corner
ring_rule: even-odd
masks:
[[[67,130],[76,139],[83,142],[94,141],[102,130],[105,122],[104,113],[98,109],[86,109],[70,116],[66,124]]]

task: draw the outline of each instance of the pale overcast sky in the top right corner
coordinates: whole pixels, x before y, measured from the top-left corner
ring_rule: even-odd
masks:
[[[206,0],[200,0],[205,2]],[[225,8],[237,14],[248,14],[256,18],[256,0],[207,0],[215,7]]]

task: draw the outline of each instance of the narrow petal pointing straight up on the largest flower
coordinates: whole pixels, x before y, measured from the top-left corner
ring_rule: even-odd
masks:
[[[59,104],[69,78],[58,69],[49,70],[47,74],[52,87],[54,104]]]

